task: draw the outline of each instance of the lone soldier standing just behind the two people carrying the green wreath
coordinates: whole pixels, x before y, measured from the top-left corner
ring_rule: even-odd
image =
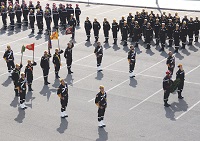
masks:
[[[167,57],[167,67],[168,70],[171,72],[171,76],[173,75],[174,72],[174,67],[175,67],[175,57],[173,56],[173,53],[169,51],[168,57]]]

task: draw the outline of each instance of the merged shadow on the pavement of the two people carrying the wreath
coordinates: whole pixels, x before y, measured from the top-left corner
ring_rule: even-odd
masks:
[[[176,120],[175,119],[175,113],[181,112],[181,111],[187,111],[188,104],[184,99],[179,99],[179,102],[173,102],[170,107],[164,107],[165,109],[165,116],[166,118],[169,118],[170,120]]]

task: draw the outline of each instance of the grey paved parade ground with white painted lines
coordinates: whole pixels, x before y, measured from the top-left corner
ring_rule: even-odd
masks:
[[[49,3],[59,1],[49,1]],[[45,1],[41,2],[45,5]],[[75,5],[75,4],[73,4]],[[162,78],[167,69],[165,65],[168,50],[160,53],[160,47],[153,47],[146,51],[141,43],[137,49],[136,77],[129,79],[127,51],[118,41],[117,46],[103,44],[105,55],[103,58],[103,72],[96,73],[96,60],[93,54],[94,37],[90,43],[85,42],[83,21],[86,15],[92,20],[99,21],[107,17],[119,19],[130,11],[141,11],[136,8],[80,4],[82,9],[81,27],[76,30],[76,44],[73,50],[73,75],[67,75],[64,58],[60,76],[69,87],[69,105],[67,119],[60,119],[60,103],[56,88],[58,80],[54,79],[54,69],[51,63],[49,81],[51,85],[43,86],[42,71],[39,66],[40,57],[47,49],[45,35],[31,35],[30,29],[22,28],[14,32],[0,31],[0,55],[7,44],[15,52],[15,62],[20,62],[20,50],[23,44],[34,42],[35,60],[38,66],[34,68],[34,82],[32,93],[27,93],[28,109],[18,108],[18,98],[14,97],[13,84],[8,78],[6,64],[0,59],[0,140],[1,141],[197,141],[200,138],[200,62],[199,47],[186,47],[186,50],[176,54],[176,64],[182,63],[186,72],[186,83],[183,91],[184,100],[178,100],[177,94],[171,94],[170,108],[163,107]],[[111,11],[112,8],[112,11]],[[150,11],[151,9],[146,9]],[[155,13],[159,11],[154,10]],[[172,14],[175,11],[167,11]],[[199,13],[179,12],[181,16],[200,17]],[[0,27],[2,22],[0,22]],[[60,35],[60,46],[65,49],[70,36]],[[103,41],[101,30],[100,41]],[[130,46],[130,43],[129,43]],[[53,41],[53,48],[57,41]],[[26,51],[23,64],[32,59],[32,52]],[[24,68],[22,68],[24,70]],[[177,68],[175,69],[177,71]],[[105,86],[108,93],[108,108],[105,122],[107,127],[97,127],[97,107],[93,98],[98,92],[100,84]]]

